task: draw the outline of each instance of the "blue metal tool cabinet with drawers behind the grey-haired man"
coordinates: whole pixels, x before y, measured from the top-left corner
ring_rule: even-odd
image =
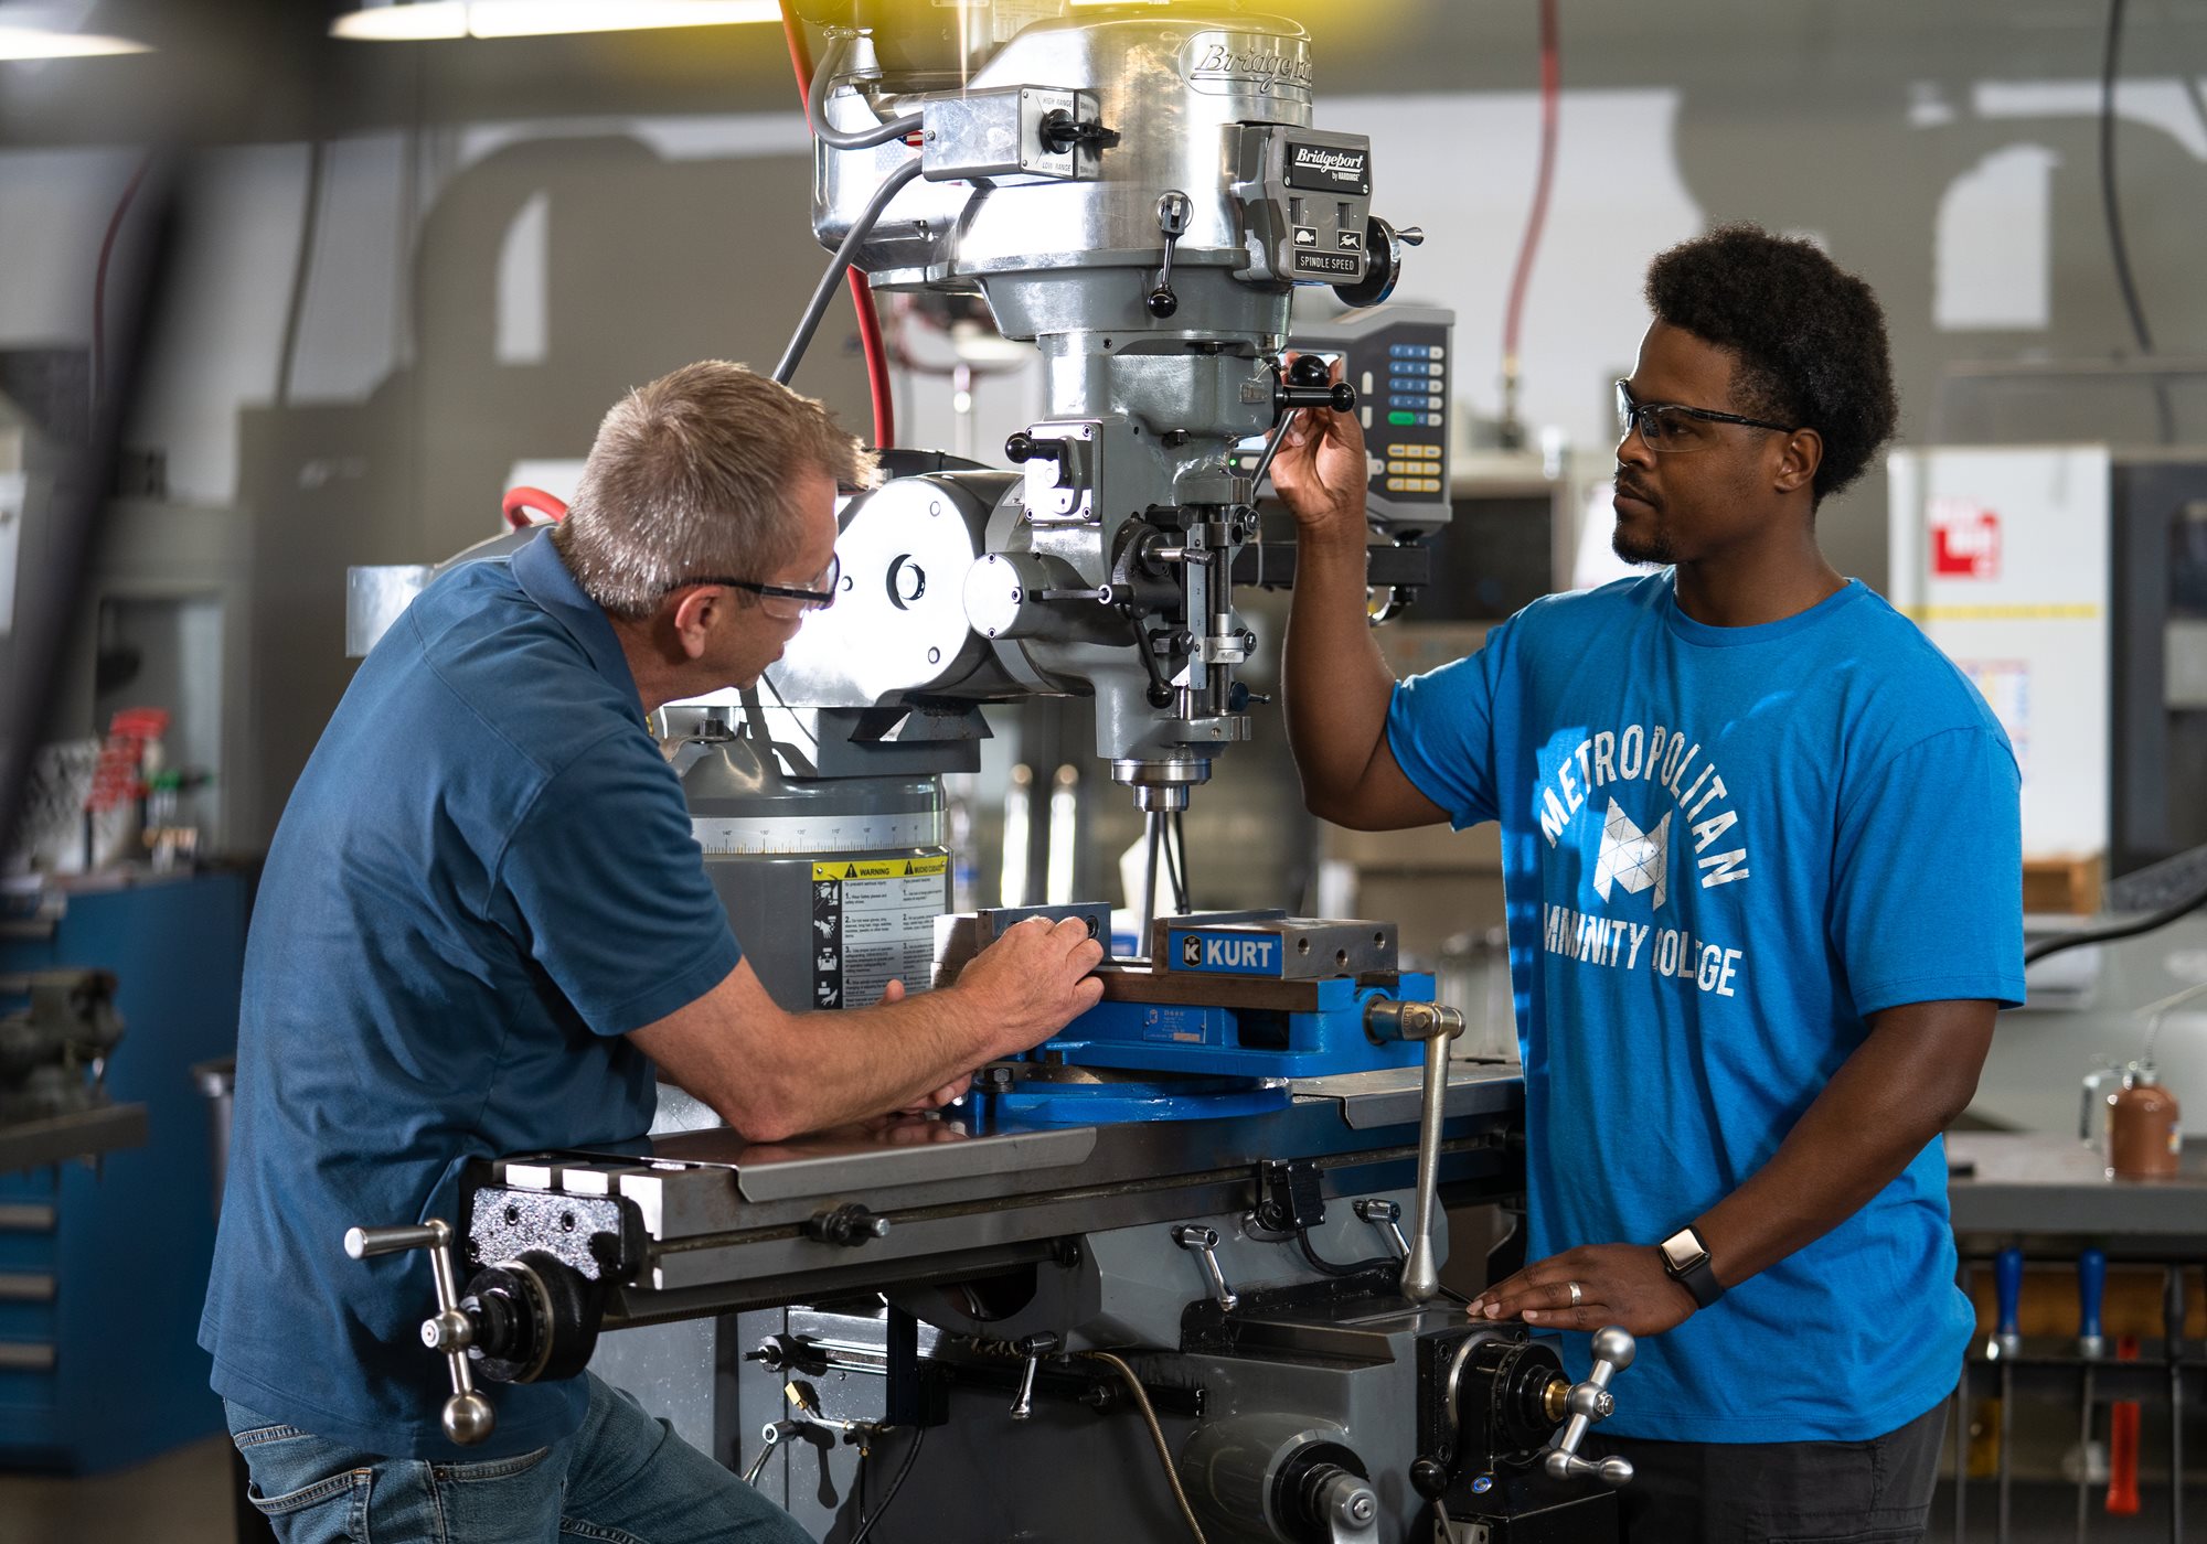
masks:
[[[73,893],[51,935],[0,940],[0,975],[115,973],[108,1090],[148,1127],[97,1171],[0,1173],[0,1465],[97,1473],[223,1425],[196,1341],[214,1149],[190,1068],[236,1048],[245,911],[245,876],[179,876]]]

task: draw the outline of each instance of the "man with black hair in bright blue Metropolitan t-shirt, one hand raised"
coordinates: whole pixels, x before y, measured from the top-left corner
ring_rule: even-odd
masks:
[[[1289,432],[1289,737],[1329,821],[1503,827],[1532,1264],[1472,1317],[1644,1337],[1589,1443],[1629,1540],[1907,1540],[1973,1321],[1940,1132],[2024,997],[2015,757],[1816,549],[1894,430],[1869,287],[1726,227],[1646,298],[1613,540],[1666,567],[1430,675],[1366,626],[1357,421]]]

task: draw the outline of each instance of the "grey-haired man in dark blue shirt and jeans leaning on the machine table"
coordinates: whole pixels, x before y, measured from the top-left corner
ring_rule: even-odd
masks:
[[[1099,997],[1086,929],[1031,922],[947,990],[792,1015],[728,931],[644,715],[781,655],[870,474],[817,401],[675,371],[607,412],[567,521],[422,591],[331,717],[254,904],[199,1337],[287,1544],[806,1537],[587,1374],[455,1447],[428,1262],[342,1240],[452,1218],[470,1160],[642,1136],[653,1068],[775,1140],[947,1103]]]

